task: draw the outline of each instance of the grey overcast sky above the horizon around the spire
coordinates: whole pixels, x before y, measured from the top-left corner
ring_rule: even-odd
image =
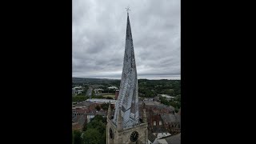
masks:
[[[180,0],[73,0],[72,75],[121,79],[126,7],[138,78],[180,79]]]

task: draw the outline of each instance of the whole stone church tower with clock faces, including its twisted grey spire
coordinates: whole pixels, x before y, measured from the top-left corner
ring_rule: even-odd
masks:
[[[118,101],[115,103],[114,118],[112,117],[109,106],[106,125],[106,143],[148,143],[146,110],[143,110],[142,120],[138,116],[138,79],[129,13],[127,13],[126,48],[120,91]]]

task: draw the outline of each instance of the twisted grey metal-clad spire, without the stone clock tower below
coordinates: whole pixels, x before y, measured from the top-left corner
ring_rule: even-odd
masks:
[[[138,124],[138,79],[129,15],[127,15],[126,48],[122,67],[122,79],[114,111],[113,121],[115,124],[118,123],[118,110],[121,110],[122,128],[125,129]]]

